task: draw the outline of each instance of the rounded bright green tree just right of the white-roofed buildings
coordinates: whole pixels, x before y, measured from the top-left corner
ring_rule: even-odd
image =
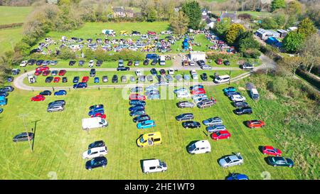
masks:
[[[302,48],[304,43],[304,34],[292,31],[283,39],[282,44],[284,49],[289,53],[296,53]]]

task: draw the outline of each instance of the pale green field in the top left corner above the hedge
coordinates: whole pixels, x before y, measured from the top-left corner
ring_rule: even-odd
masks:
[[[0,6],[0,25],[23,23],[31,11],[33,11],[31,6]]]

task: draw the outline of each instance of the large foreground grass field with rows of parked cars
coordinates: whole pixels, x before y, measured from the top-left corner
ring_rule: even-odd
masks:
[[[237,172],[245,173],[251,179],[262,179],[262,172],[265,171],[270,173],[272,179],[298,178],[297,168],[267,166],[265,156],[258,149],[259,146],[272,145],[282,149],[284,156],[287,155],[287,149],[280,146],[277,139],[271,138],[274,130],[272,120],[263,118],[265,114],[273,113],[264,110],[270,101],[262,97],[261,101],[252,102],[247,93],[242,92],[253,107],[254,114],[236,116],[229,99],[221,91],[225,86],[206,87],[208,95],[213,95],[218,103],[208,109],[178,109],[176,99],[148,100],[146,112],[156,121],[156,127],[145,130],[137,129],[132,122],[128,100],[122,98],[122,90],[119,89],[71,91],[65,97],[52,96],[44,102],[30,102],[30,97],[36,92],[16,90],[11,93],[9,105],[0,117],[1,126],[5,126],[0,136],[0,178],[50,179],[56,173],[58,179],[223,179],[228,173]],[[55,99],[65,99],[66,109],[49,114],[46,106]],[[87,117],[87,108],[100,103],[105,104],[110,125],[89,133],[82,131],[81,119]],[[193,112],[198,122],[209,117],[221,117],[232,137],[221,141],[209,139],[211,153],[189,155],[186,146],[191,141],[208,137],[204,126],[201,129],[183,129],[181,122],[174,119],[183,112]],[[33,153],[28,142],[12,142],[14,135],[24,131],[21,114],[27,114],[28,129],[36,131]],[[243,122],[248,119],[265,119],[267,126],[264,129],[247,129]],[[136,139],[140,134],[150,131],[161,131],[164,143],[139,149],[135,144]],[[106,142],[109,149],[107,168],[87,171],[81,154],[88,144],[100,139]],[[232,152],[240,152],[245,164],[226,169],[218,166],[218,158]],[[169,171],[145,175],[140,160],[147,158],[165,161]]]

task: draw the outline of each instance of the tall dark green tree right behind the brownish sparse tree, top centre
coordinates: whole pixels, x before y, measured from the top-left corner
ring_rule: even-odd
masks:
[[[201,23],[201,7],[197,1],[190,1],[182,6],[182,11],[188,16],[188,27],[198,30]]]

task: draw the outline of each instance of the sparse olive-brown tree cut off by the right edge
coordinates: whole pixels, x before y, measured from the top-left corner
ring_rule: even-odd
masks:
[[[315,65],[320,64],[320,36],[317,33],[312,34],[302,45],[302,56],[306,62],[306,69],[309,72]]]

